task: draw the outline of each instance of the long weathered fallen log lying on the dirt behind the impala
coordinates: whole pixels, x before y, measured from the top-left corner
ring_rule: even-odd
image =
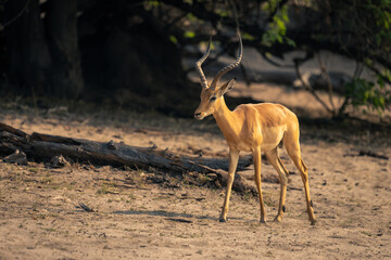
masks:
[[[228,159],[186,157],[154,147],[136,147],[124,143],[94,142],[34,132],[27,134],[18,129],[0,122],[0,154],[8,156],[16,151],[23,152],[28,160],[50,161],[54,156],[64,156],[78,162],[113,167],[127,166],[133,169],[156,168],[162,171],[184,173],[195,171],[217,174],[222,184],[226,183]],[[252,164],[250,156],[241,157],[238,171]],[[253,186],[240,174],[235,178],[234,190],[253,191]]]

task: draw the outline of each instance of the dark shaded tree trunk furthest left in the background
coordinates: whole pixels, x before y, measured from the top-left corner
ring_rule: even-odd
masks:
[[[26,5],[26,0],[7,1],[5,20],[14,18]],[[24,93],[43,92],[51,57],[40,18],[39,1],[30,0],[26,11],[5,27],[8,46],[8,76]]]

